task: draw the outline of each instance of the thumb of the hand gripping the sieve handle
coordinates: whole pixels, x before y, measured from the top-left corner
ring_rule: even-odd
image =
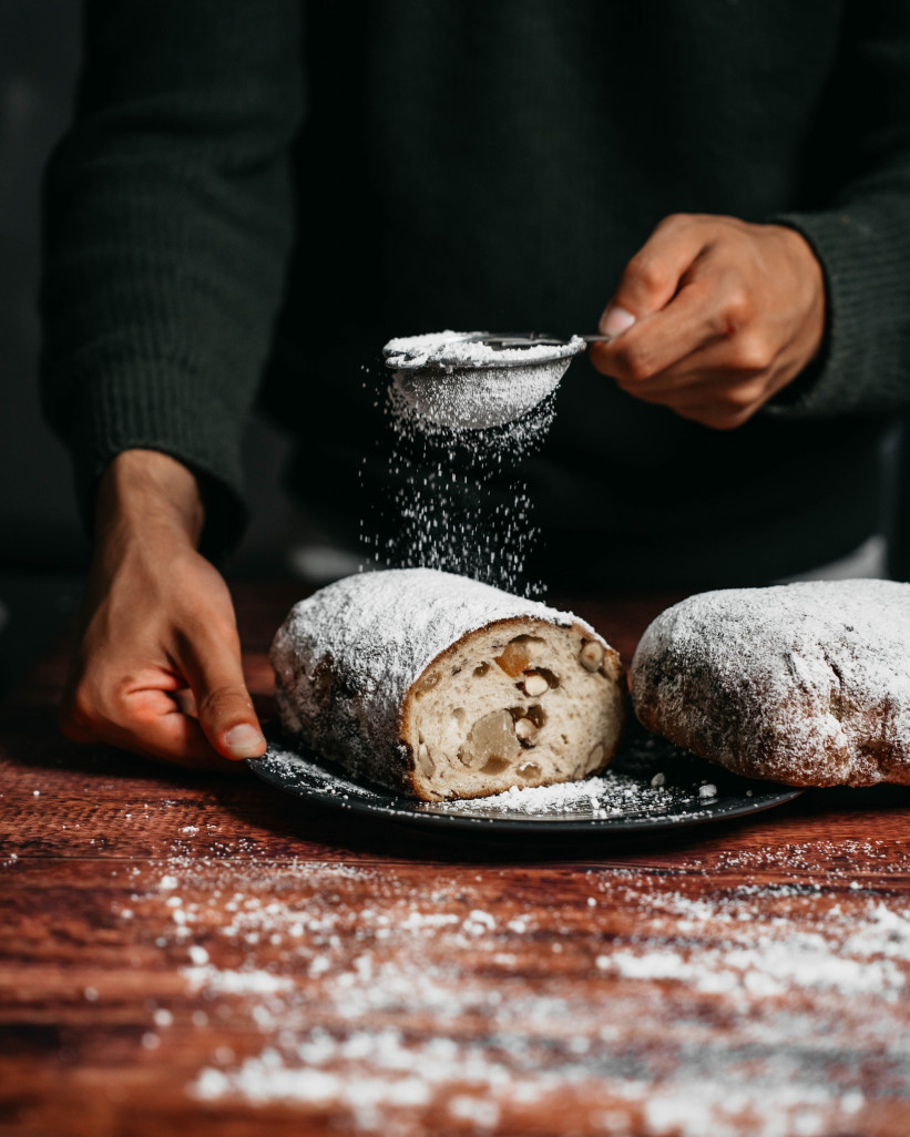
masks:
[[[599,330],[619,337],[636,321],[660,312],[705,247],[706,230],[695,218],[664,218],[626,266],[619,288],[604,309]]]

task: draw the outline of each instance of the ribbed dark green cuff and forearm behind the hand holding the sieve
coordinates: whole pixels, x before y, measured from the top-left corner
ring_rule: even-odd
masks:
[[[905,406],[910,374],[910,206],[882,194],[838,210],[768,218],[801,233],[826,288],[821,356],[774,413],[834,415]]]

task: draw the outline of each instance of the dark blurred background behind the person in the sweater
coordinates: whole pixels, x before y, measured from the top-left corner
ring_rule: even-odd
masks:
[[[0,0],[0,691],[72,612],[88,558],[67,455],[43,423],[36,383],[39,197],[48,151],[71,113],[78,66],[78,0]],[[910,463],[892,443],[892,573],[910,576]],[[280,489],[284,440],[263,421],[246,445],[254,521],[229,565],[275,575],[316,540]],[[295,554],[297,550],[297,555]]]

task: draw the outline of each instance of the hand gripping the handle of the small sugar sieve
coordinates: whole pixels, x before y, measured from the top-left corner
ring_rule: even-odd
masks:
[[[592,363],[623,391],[684,418],[742,425],[814,358],[821,266],[781,225],[680,214],[632,257],[601,317]]]

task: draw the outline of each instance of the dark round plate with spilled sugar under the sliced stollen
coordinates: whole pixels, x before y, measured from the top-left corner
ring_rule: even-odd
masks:
[[[604,830],[675,829],[747,816],[802,792],[776,782],[739,778],[637,725],[596,778],[470,800],[416,802],[382,786],[355,781],[340,766],[300,753],[274,732],[263,757],[247,764],[270,786],[332,808],[437,831],[457,829],[488,836],[606,836]]]

